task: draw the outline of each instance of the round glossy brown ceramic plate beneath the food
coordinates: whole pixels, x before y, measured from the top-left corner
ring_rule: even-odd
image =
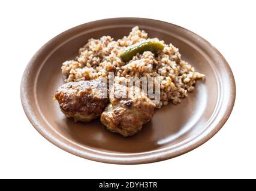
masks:
[[[62,62],[76,57],[89,38],[119,39],[136,25],[150,37],[178,47],[183,60],[204,73],[206,81],[198,81],[182,103],[155,110],[153,119],[132,137],[111,133],[99,120],[86,124],[65,118],[53,101],[56,89],[64,84]],[[82,24],[47,42],[29,61],[20,93],[29,121],[61,149],[94,161],[143,164],[182,155],[209,140],[227,121],[236,88],[225,58],[195,33],[158,20],[115,18]]]

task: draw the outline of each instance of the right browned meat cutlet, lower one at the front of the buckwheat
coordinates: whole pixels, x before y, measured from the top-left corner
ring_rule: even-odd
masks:
[[[119,133],[124,137],[131,136],[141,130],[142,125],[150,121],[155,104],[142,93],[140,88],[128,88],[115,84],[115,94],[110,95],[110,104],[101,114],[101,123],[108,130]],[[113,90],[112,90],[113,91]],[[141,94],[134,94],[139,91]],[[132,95],[127,98],[118,98],[122,93]]]

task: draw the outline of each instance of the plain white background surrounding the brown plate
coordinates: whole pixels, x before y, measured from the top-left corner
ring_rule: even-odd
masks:
[[[0,178],[256,178],[254,2],[1,1]],[[64,30],[110,17],[168,21],[218,48],[237,86],[233,112],[219,133],[185,155],[144,165],[88,161],[37,133],[20,103],[20,80],[29,59]]]

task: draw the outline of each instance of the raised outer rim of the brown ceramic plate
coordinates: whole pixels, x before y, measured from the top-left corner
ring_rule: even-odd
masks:
[[[228,107],[226,108],[224,114],[222,114],[221,120],[218,122],[218,124],[216,124],[215,128],[213,128],[207,135],[204,135],[204,137],[200,138],[199,140],[196,140],[194,143],[191,143],[192,140],[190,140],[188,142],[188,143],[190,143],[188,146],[178,147],[177,150],[174,150],[174,151],[173,151],[173,149],[167,149],[168,152],[165,152],[164,150],[162,150],[162,151],[159,151],[158,153],[156,153],[155,155],[153,155],[150,152],[141,152],[141,153],[134,153],[133,156],[131,156],[131,157],[130,156],[125,157],[125,155],[121,155],[121,154],[117,154],[116,156],[111,156],[111,155],[107,155],[106,154],[107,152],[106,153],[104,153],[104,152],[98,153],[98,152],[96,152],[97,149],[95,149],[95,151],[87,150],[87,152],[86,151],[82,152],[81,150],[74,149],[72,146],[67,146],[67,143],[66,144],[63,143],[60,140],[60,138],[56,137],[55,135],[50,134],[49,132],[47,133],[47,131],[44,131],[43,125],[38,124],[37,117],[35,117],[33,115],[33,113],[31,112],[31,107],[28,104],[29,98],[28,98],[27,91],[26,91],[27,90],[26,84],[28,83],[28,71],[29,71],[29,68],[31,68],[33,66],[35,59],[40,55],[40,53],[49,44],[51,44],[53,41],[55,41],[55,39],[65,35],[66,33],[71,32],[76,29],[79,29],[80,27],[84,27],[87,24],[94,24],[99,21],[104,22],[104,21],[113,20],[113,19],[141,19],[141,20],[145,20],[145,21],[151,20],[151,21],[155,21],[155,22],[159,22],[159,23],[170,24],[170,25],[173,25],[174,27],[177,27],[181,30],[185,30],[188,33],[191,33],[194,36],[197,36],[197,38],[199,38],[205,44],[209,45],[210,48],[213,48],[213,50],[215,50],[216,53],[218,53],[218,56],[221,58],[222,62],[225,64],[226,70],[228,72],[228,76],[230,76],[231,87],[230,87],[230,97],[228,99],[230,104],[228,104]],[[20,99],[22,101],[23,110],[25,111],[25,114],[26,114],[27,118],[29,119],[29,121],[31,122],[32,126],[38,131],[38,133],[43,135],[44,138],[46,138],[48,141],[55,144],[55,146],[58,146],[62,150],[65,150],[69,153],[72,153],[73,155],[80,156],[82,158],[86,158],[86,159],[89,159],[92,161],[104,162],[104,163],[109,163],[109,164],[146,164],[146,163],[164,161],[167,159],[174,158],[176,156],[183,155],[187,152],[190,152],[191,150],[194,150],[195,148],[201,146],[201,144],[206,143],[206,141],[208,141],[216,133],[218,133],[218,131],[221,130],[221,128],[223,127],[223,125],[225,124],[225,122],[227,121],[227,119],[229,118],[229,116],[233,110],[234,103],[236,100],[236,82],[234,79],[233,72],[232,72],[228,62],[225,60],[224,56],[222,56],[222,54],[212,44],[210,44],[210,42],[206,41],[206,39],[202,38],[201,36],[197,35],[196,33],[191,32],[191,30],[188,30],[188,29],[185,29],[184,27],[177,26],[176,24],[168,23],[166,21],[161,21],[161,20],[146,19],[146,18],[140,18],[140,17],[115,17],[115,18],[95,20],[95,21],[91,21],[88,23],[80,24],[78,26],[72,27],[71,29],[65,30],[64,32],[62,32],[59,35],[56,35],[55,37],[50,39],[50,41],[46,42],[46,44],[44,44],[34,54],[34,56],[31,58],[31,60],[25,67],[25,71],[23,72],[22,81],[20,84]],[[217,115],[219,115],[219,114],[217,113]],[[197,135],[197,136],[200,136],[200,135]],[[156,151],[157,150],[158,149],[156,149]],[[94,153],[94,152],[96,152],[96,153]],[[131,153],[131,155],[132,155],[132,153]]]

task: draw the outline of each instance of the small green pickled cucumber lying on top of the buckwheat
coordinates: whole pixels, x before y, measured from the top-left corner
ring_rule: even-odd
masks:
[[[122,61],[130,61],[133,56],[135,56],[137,53],[144,53],[144,51],[151,51],[152,53],[156,53],[158,50],[164,49],[164,45],[160,42],[156,41],[142,41],[138,42],[134,45],[131,45],[127,48],[125,48],[124,51],[120,54],[120,58]]]

